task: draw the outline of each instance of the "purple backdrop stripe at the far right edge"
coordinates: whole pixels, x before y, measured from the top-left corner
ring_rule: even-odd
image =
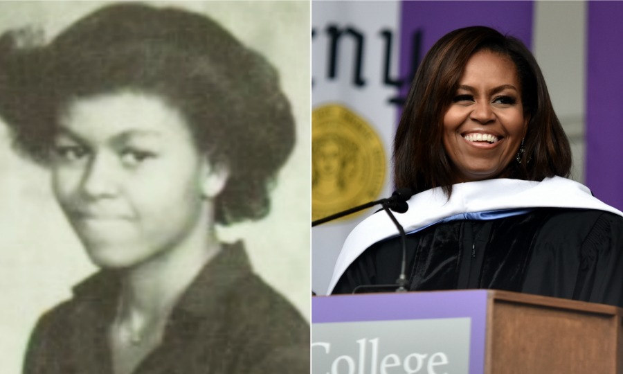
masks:
[[[622,20],[623,2],[588,1],[586,184],[618,209],[623,209]]]

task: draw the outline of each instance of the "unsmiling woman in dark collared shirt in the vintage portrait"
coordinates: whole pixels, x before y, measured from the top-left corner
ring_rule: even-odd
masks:
[[[138,3],[24,37],[0,38],[0,112],[100,268],[39,319],[24,373],[309,373],[305,319],[215,231],[269,213],[294,148],[273,66]]]

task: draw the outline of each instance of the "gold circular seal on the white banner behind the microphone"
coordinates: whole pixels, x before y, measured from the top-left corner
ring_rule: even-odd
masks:
[[[386,162],[381,139],[363,118],[341,105],[314,109],[311,220],[377,199],[385,184]]]

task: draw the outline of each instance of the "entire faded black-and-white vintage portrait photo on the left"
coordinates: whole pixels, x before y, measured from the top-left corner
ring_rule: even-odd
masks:
[[[309,3],[0,3],[1,373],[309,371]]]

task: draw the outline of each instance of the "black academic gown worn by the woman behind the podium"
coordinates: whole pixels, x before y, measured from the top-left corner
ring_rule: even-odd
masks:
[[[333,293],[395,283],[401,256],[399,238],[372,245]],[[435,224],[407,235],[406,259],[411,291],[486,288],[623,307],[623,217],[605,211],[536,208]]]

